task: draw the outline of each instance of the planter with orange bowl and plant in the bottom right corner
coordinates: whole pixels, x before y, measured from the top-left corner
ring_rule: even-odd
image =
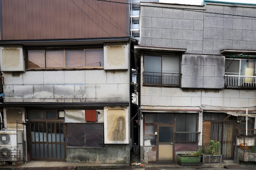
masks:
[[[256,143],[254,143],[253,146],[250,146],[250,148],[245,149],[245,152],[244,152],[244,149],[240,149],[238,152],[238,160],[244,161],[244,162],[255,162],[256,161]]]

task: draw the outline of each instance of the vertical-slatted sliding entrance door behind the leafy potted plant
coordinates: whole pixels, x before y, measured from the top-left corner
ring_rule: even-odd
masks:
[[[234,160],[235,155],[235,123],[223,122],[211,124],[213,141],[221,143],[221,152],[223,160]]]

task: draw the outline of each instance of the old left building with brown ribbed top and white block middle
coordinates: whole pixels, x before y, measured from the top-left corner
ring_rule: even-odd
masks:
[[[22,132],[18,161],[130,163],[138,42],[117,1],[0,0],[1,131]]]

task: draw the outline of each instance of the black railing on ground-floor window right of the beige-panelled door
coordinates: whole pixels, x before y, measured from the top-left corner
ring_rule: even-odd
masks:
[[[201,132],[175,132],[176,143],[198,143]]]

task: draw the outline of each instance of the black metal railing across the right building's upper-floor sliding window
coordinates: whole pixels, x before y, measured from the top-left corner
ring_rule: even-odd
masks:
[[[144,86],[179,87],[181,74],[143,72]]]

